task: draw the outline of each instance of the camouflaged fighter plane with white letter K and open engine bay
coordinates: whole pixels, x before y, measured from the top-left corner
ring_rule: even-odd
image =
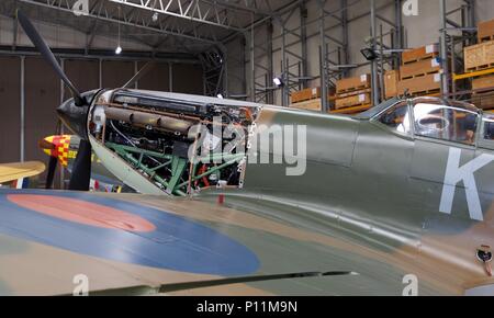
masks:
[[[0,191],[1,294],[71,294],[87,277],[90,294],[494,295],[493,115],[430,98],[347,117],[126,88],[79,93],[18,16],[74,94],[58,109],[81,137],[70,189],[88,189],[93,150],[141,194]],[[305,156],[280,163],[273,143],[189,160],[204,141],[198,123],[233,125],[252,145],[300,126]],[[201,133],[211,148],[232,143],[211,132]]]

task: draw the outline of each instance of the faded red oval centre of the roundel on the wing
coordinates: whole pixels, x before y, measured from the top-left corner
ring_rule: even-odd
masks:
[[[137,215],[82,200],[36,194],[9,194],[7,198],[37,213],[83,225],[128,231],[156,229],[154,224]]]

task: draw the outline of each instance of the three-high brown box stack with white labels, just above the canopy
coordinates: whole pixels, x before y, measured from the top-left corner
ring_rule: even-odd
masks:
[[[441,75],[439,46],[431,44],[402,54],[397,94],[405,90],[412,95],[430,95],[439,93]]]

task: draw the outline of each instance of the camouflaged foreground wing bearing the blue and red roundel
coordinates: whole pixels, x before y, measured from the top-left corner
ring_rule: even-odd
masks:
[[[0,294],[72,294],[87,277],[100,294],[401,295],[398,257],[321,230],[296,209],[261,209],[0,190]]]

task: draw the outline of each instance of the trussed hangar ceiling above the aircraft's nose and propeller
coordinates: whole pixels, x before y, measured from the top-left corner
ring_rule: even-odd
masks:
[[[21,8],[35,21],[67,26],[88,35],[115,36],[155,52],[197,54],[221,45],[301,0],[89,0],[89,14],[76,18],[76,0],[2,0],[0,14]]]

